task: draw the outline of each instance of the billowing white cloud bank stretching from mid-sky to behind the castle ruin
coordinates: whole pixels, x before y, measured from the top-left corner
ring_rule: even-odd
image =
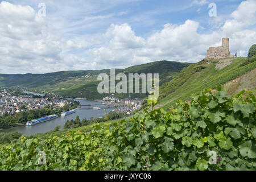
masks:
[[[198,3],[203,2],[205,3]],[[255,2],[242,2],[230,15],[230,19],[211,34],[200,34],[200,23],[193,20],[187,20],[180,25],[165,24],[161,31],[146,39],[136,36],[127,23],[112,24],[106,32],[110,40],[100,48],[90,49],[89,53],[96,63],[104,63],[102,67],[106,68],[122,65],[127,67],[127,64],[156,60],[197,62],[206,57],[208,47],[221,46],[221,38],[229,37],[230,52],[246,56],[250,46],[256,42],[256,31],[250,27],[256,23]],[[246,20],[243,20],[243,17],[246,17]]]

